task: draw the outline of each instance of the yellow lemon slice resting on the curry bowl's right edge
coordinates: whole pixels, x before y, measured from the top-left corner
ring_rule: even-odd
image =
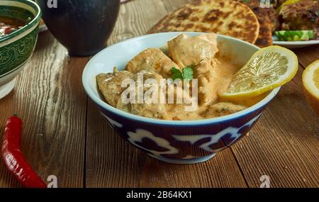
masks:
[[[233,77],[223,99],[248,99],[275,89],[289,82],[298,70],[298,58],[284,47],[264,47]]]

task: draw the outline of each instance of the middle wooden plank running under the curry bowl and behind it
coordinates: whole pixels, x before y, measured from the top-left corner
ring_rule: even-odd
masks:
[[[146,33],[168,12],[188,2],[140,0],[122,5],[110,44]],[[147,12],[143,9],[145,6]],[[223,150],[211,161],[203,164],[175,165],[159,162],[114,134],[94,104],[89,101],[86,186],[246,187],[247,185],[230,149]]]

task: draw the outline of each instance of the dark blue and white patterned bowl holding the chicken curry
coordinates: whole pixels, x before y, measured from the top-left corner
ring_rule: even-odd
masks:
[[[124,69],[128,60],[147,47],[162,47],[180,33],[158,33],[125,40],[107,47],[86,65],[82,82],[86,94],[99,108],[101,115],[119,135],[135,147],[156,159],[169,163],[192,164],[204,162],[216,152],[242,138],[256,123],[262,112],[279,91],[274,89],[262,101],[250,108],[228,116],[206,120],[157,120],[125,113],[105,103],[96,89],[96,75]],[[198,35],[198,33],[186,33]],[[245,64],[259,50],[250,43],[218,35],[223,55]]]

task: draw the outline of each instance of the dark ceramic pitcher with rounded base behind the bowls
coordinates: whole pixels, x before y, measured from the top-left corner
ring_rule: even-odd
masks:
[[[52,35],[71,56],[94,55],[106,47],[120,0],[36,0]]]

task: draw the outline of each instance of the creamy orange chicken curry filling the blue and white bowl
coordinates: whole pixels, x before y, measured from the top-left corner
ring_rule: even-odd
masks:
[[[256,103],[235,103],[220,99],[219,95],[228,89],[233,75],[240,67],[218,53],[216,34],[208,33],[196,37],[181,34],[169,40],[167,45],[167,55],[159,48],[148,48],[130,60],[125,70],[118,71],[114,68],[113,73],[97,75],[96,82],[106,102],[128,113],[164,120],[198,120],[226,116]],[[185,67],[191,69],[191,72],[184,71]],[[123,92],[127,89],[127,86],[123,86],[125,79],[138,81],[138,74],[143,74],[143,82],[147,79],[153,79],[155,82],[160,82],[161,79],[172,80],[172,68],[184,77],[186,73],[193,77],[189,86],[194,87],[196,80],[198,103],[193,111],[185,110],[185,105],[189,103],[176,102],[176,91],[173,93],[174,103],[123,102]],[[182,82],[185,83],[186,80]],[[174,89],[178,88],[184,90],[185,85],[174,86]],[[147,89],[150,89],[150,85],[144,84],[143,92]],[[165,97],[169,96],[168,94],[167,91],[164,92]],[[192,97],[195,96],[194,88],[190,94]]]

